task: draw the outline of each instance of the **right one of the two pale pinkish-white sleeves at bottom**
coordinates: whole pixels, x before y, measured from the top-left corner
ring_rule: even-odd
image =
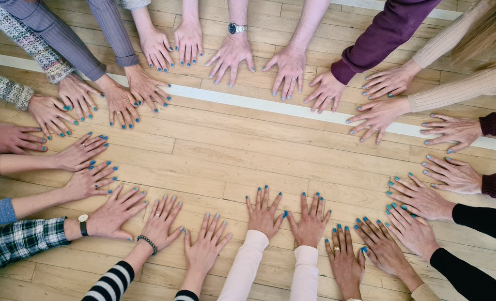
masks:
[[[296,265],[291,284],[290,301],[317,300],[317,258],[318,250],[302,245],[295,250]]]

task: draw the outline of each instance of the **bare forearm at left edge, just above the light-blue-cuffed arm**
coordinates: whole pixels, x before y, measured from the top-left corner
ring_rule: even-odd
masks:
[[[55,169],[57,163],[53,156],[0,154],[0,175],[40,169]]]

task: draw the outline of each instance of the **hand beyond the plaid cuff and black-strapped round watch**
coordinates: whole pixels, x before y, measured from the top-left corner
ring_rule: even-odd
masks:
[[[125,221],[146,208],[148,203],[144,201],[132,207],[142,200],[146,193],[144,191],[138,193],[138,188],[134,187],[119,198],[122,189],[122,185],[117,186],[116,191],[107,202],[90,215],[86,222],[88,235],[132,241],[132,235],[121,230],[121,226]]]

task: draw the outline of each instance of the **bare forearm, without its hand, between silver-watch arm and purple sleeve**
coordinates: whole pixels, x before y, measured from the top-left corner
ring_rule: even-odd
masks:
[[[288,48],[305,51],[315,34],[320,21],[324,17],[330,0],[305,0],[302,16],[298,21],[295,33],[288,44]]]

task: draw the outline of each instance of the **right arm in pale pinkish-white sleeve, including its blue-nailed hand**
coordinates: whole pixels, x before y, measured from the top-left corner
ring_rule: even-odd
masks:
[[[325,226],[331,217],[331,211],[327,211],[325,218],[322,220],[322,211],[324,209],[324,198],[317,192],[311,202],[310,213],[307,206],[307,195],[302,193],[301,196],[302,220],[296,223],[293,214],[288,215],[291,231],[295,236],[298,247],[295,250],[296,265],[293,274],[293,283],[291,284],[291,301],[298,300],[316,300],[318,269],[317,244],[322,238]]]

